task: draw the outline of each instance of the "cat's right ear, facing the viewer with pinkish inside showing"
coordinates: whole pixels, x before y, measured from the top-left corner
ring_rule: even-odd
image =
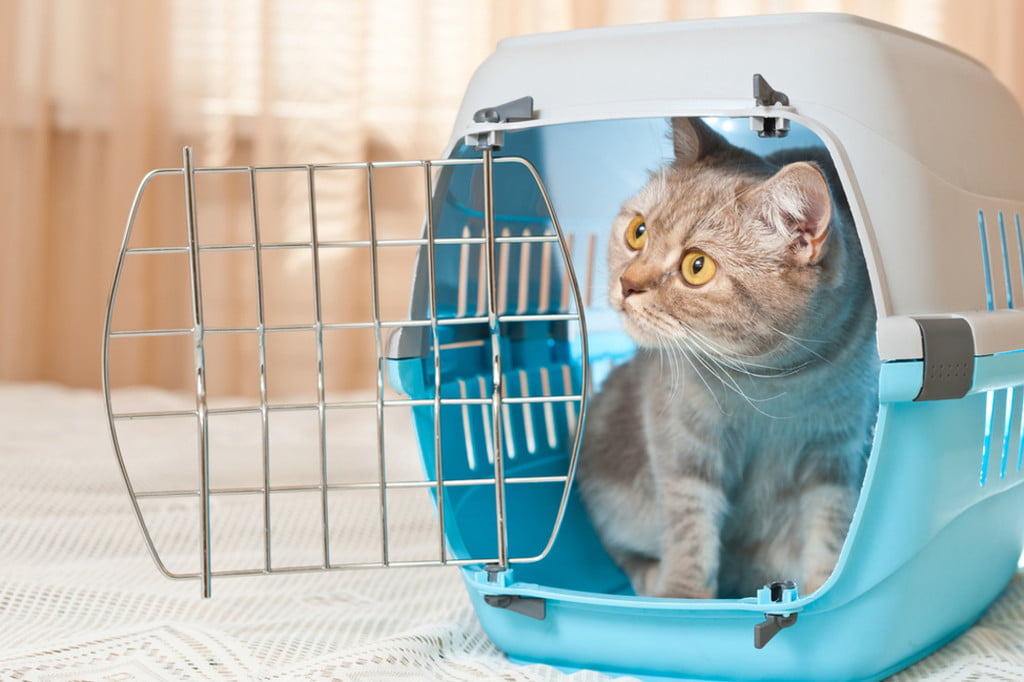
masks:
[[[816,166],[803,161],[783,166],[753,194],[762,219],[793,239],[790,257],[796,264],[821,260],[831,220],[831,197]]]

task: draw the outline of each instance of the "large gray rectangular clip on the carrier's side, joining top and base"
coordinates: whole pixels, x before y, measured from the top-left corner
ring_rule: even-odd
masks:
[[[974,334],[962,317],[914,317],[925,371],[914,400],[962,398],[974,381]]]

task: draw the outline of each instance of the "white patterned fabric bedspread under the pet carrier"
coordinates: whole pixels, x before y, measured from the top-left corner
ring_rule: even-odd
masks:
[[[172,396],[131,399],[167,409]],[[224,578],[204,600],[198,582],[154,567],[98,392],[0,384],[0,679],[609,679],[510,663],[481,631],[455,568]],[[395,527],[425,524],[429,538],[420,510],[395,505]],[[283,522],[288,514],[282,508]],[[1018,577],[967,634],[894,679],[1022,678]]]

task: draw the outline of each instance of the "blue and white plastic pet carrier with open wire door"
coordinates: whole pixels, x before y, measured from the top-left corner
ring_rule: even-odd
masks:
[[[879,319],[879,414],[848,539],[831,578],[813,594],[776,584],[743,599],[638,597],[569,484],[587,396],[633,352],[604,305],[605,231],[645,174],[671,158],[673,117],[701,117],[758,154],[825,148],[856,222]],[[473,77],[436,162],[204,169],[186,153],[183,168],[155,171],[143,182],[183,178],[185,244],[133,247],[130,220],[118,278],[131,259],[186,260],[190,321],[119,330],[109,317],[106,330],[108,361],[122,337],[180,335],[195,351],[194,409],[135,414],[109,400],[151,548],[159,554],[143,503],[184,496],[197,501],[202,519],[201,566],[165,572],[202,579],[207,592],[222,573],[422,565],[387,549],[387,496],[414,488],[431,496],[436,514],[442,540],[433,561],[462,566],[480,622],[515,659],[650,678],[891,674],[968,628],[1021,555],[1024,314],[1014,308],[1024,297],[1022,136],[1011,95],[969,57],[886,26],[820,14],[506,40]],[[399,166],[422,172],[427,220],[415,239],[389,240],[377,233],[374,183]],[[251,184],[244,243],[200,238],[196,181],[216,173]],[[311,229],[301,244],[260,237],[257,179],[272,173],[304,182]],[[324,178],[344,173],[367,183],[369,232],[332,241],[317,232],[324,219],[315,194]],[[397,247],[416,249],[418,258],[410,311],[388,318],[380,312],[378,254]],[[250,328],[206,324],[201,255],[254,255],[262,310],[260,254],[274,249],[311,254],[313,318],[273,327],[261,312]],[[371,319],[322,314],[329,292],[316,263],[345,249],[361,249],[372,261]],[[116,280],[111,315],[117,287]],[[317,390],[306,403],[278,404],[265,390],[264,344],[300,328],[319,339]],[[332,401],[323,335],[348,329],[372,332],[377,389],[362,401]],[[257,404],[207,403],[204,340],[217,334],[258,342]],[[109,372],[105,379],[110,396]],[[386,472],[385,416],[394,409],[412,411],[421,479],[393,482]],[[369,482],[338,482],[328,471],[336,446],[329,420],[347,410],[367,411],[377,431],[371,459],[380,466]],[[292,486],[322,508],[323,552],[308,565],[285,565],[269,549],[270,499],[288,486],[267,473],[266,425],[288,411],[308,412],[321,433],[318,479]],[[216,457],[210,425],[241,413],[262,424],[263,478],[218,488],[208,473]],[[199,442],[198,483],[187,489],[133,487],[119,436],[154,419],[183,420]],[[328,526],[336,496],[359,486],[380,497],[384,549],[373,560],[346,562],[332,557]],[[210,558],[211,501],[229,495],[263,501],[266,555],[257,565],[218,569]]]

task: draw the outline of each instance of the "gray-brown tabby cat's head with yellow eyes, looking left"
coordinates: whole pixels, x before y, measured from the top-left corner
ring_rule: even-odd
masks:
[[[699,120],[673,121],[674,163],[615,218],[609,299],[640,345],[771,356],[804,322],[828,249],[828,185],[780,169]]]

